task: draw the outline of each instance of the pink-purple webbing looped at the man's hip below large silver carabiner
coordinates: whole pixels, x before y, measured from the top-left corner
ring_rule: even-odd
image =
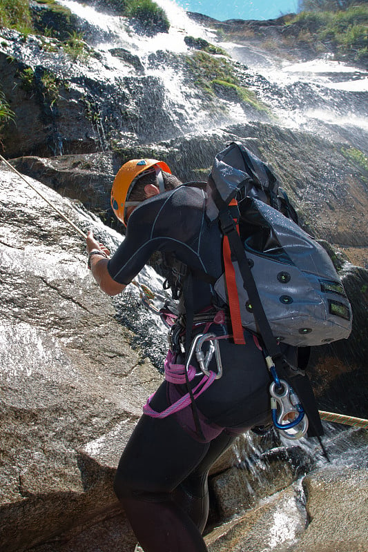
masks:
[[[174,355],[172,351],[168,351],[164,368],[165,368],[165,380],[167,382],[170,382],[172,384],[185,384],[186,383],[186,377],[185,377],[185,364],[173,364]],[[194,366],[189,365],[188,368],[188,380],[191,382],[193,378],[195,377],[196,370]],[[200,382],[192,389],[193,397],[196,399],[206,389],[209,388],[209,386],[215,381],[216,374],[215,372],[210,371],[209,376],[203,375]],[[149,397],[148,401],[143,407],[144,414],[151,416],[153,418],[165,418],[166,416],[169,416],[175,412],[181,411],[183,408],[191,404],[191,396],[189,393],[186,393],[186,395],[183,395],[179,400],[171,404],[171,406],[168,406],[164,411],[157,412],[153,410],[150,406],[150,402],[153,398],[153,395]]]

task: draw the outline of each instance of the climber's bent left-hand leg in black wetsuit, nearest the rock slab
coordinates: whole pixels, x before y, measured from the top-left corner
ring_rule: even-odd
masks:
[[[167,404],[165,384],[154,401],[157,410]],[[209,448],[188,435],[174,416],[157,420],[143,415],[139,420],[119,462],[115,493],[145,552],[206,552],[200,531],[173,500],[173,491]]]

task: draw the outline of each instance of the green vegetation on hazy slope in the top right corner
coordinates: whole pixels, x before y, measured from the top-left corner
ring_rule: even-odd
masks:
[[[287,58],[311,59],[331,52],[337,61],[366,68],[367,0],[303,0],[298,14],[271,21],[208,21],[221,41],[251,41]]]

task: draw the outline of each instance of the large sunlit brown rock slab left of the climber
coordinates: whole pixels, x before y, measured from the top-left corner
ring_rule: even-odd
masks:
[[[78,224],[68,201],[43,192]],[[88,468],[82,449],[137,420],[160,376],[130,348],[75,230],[6,170],[0,194],[0,546],[20,551],[119,512],[116,457]]]

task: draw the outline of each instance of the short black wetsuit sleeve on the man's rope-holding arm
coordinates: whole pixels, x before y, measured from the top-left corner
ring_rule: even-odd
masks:
[[[126,237],[108,262],[108,273],[119,284],[129,284],[157,250],[151,229],[157,208],[149,201],[130,216]]]

